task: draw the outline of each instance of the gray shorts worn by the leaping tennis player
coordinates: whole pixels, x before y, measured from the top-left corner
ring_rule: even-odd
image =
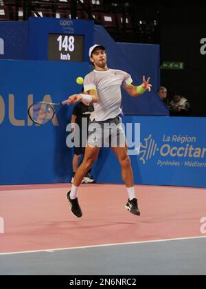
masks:
[[[117,116],[105,121],[89,124],[88,144],[93,147],[125,147],[126,137],[122,128],[122,119]]]

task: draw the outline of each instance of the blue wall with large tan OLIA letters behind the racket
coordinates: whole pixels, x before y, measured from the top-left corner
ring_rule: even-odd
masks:
[[[58,126],[32,124],[27,108],[81,92],[88,63],[0,61],[0,184],[66,182],[73,151],[66,146],[73,106],[60,109]]]

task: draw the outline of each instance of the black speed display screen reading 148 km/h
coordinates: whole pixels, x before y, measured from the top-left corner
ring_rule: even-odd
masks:
[[[49,34],[49,61],[84,61],[84,35]]]

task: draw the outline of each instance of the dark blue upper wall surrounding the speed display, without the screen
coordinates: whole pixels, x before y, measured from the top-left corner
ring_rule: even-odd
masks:
[[[28,21],[1,21],[0,59],[47,61],[49,33],[84,35],[84,62],[93,45],[93,21],[30,17]]]

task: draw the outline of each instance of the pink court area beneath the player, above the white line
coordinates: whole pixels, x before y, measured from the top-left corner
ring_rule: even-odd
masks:
[[[203,236],[205,189],[136,186],[137,217],[124,208],[124,185],[84,184],[78,193],[83,217],[78,219],[65,197],[69,187],[0,186],[0,253]]]

